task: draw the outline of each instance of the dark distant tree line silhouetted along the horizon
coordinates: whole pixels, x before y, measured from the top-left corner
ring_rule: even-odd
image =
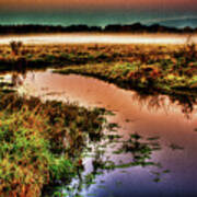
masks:
[[[113,24],[101,26],[70,25],[0,25],[0,34],[28,34],[28,33],[74,33],[74,32],[103,32],[103,33],[197,33],[197,27],[189,26],[184,28],[169,27],[160,24],[150,26],[141,23],[130,25]]]

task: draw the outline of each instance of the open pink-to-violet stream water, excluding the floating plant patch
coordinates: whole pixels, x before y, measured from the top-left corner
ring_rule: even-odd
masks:
[[[153,152],[151,158],[161,163],[162,169],[128,166],[104,171],[96,175],[95,184],[79,192],[82,196],[197,196],[197,132],[194,130],[197,128],[196,108],[188,117],[183,114],[183,106],[172,103],[167,96],[142,99],[132,91],[125,91],[97,79],[61,76],[49,70],[27,72],[19,91],[43,100],[105,107],[115,113],[115,116],[107,117],[108,121],[119,125],[118,134],[124,138],[134,132],[144,138],[160,137],[162,149]],[[117,157],[111,151],[105,154],[114,161],[130,160],[130,154]],[[83,164],[85,172],[91,172],[91,159],[85,158]],[[167,173],[162,174],[161,171]],[[153,181],[157,173],[161,173],[161,181]]]

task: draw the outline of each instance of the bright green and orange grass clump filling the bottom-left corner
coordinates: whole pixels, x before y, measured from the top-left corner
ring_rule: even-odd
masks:
[[[0,193],[40,196],[51,179],[69,178],[71,162],[51,152],[45,137],[48,117],[23,107],[18,114],[0,112]]]

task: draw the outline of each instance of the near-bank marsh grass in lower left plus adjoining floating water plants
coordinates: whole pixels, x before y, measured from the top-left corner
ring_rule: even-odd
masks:
[[[21,97],[10,86],[1,83],[1,196],[80,196],[105,171],[152,165],[160,172],[153,174],[154,182],[170,172],[151,160],[161,150],[159,137],[142,139],[134,132],[124,139],[117,134],[118,125],[106,120],[112,112],[43,103],[37,97]],[[129,161],[103,158],[108,149],[114,155],[130,154]],[[89,157],[93,171],[83,177],[83,159]],[[78,184],[71,187],[73,178]]]

